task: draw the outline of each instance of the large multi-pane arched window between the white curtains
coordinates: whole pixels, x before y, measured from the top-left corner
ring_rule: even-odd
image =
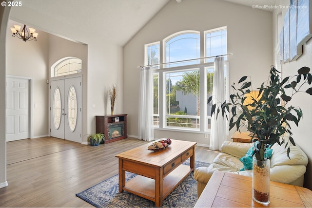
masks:
[[[207,99],[212,93],[215,56],[227,54],[227,28],[202,31],[202,34],[180,31],[162,41],[145,44],[145,64],[154,69],[156,128],[210,131],[211,106]],[[226,57],[224,71],[227,94],[229,60]]]

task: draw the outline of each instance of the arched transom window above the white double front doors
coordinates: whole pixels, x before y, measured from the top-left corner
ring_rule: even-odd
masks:
[[[51,67],[51,77],[81,73],[81,59],[67,57]]]

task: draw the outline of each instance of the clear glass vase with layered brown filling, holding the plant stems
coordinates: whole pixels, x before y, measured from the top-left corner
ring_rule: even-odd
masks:
[[[270,204],[270,160],[253,158],[253,199],[263,205]]]

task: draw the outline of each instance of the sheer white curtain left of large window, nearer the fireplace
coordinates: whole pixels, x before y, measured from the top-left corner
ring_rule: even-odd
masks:
[[[153,70],[141,68],[137,135],[145,141],[154,140],[153,83]]]

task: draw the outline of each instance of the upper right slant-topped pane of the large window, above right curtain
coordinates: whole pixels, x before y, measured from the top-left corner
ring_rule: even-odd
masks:
[[[206,57],[227,54],[226,29],[206,33]],[[227,60],[227,57],[224,57]],[[215,58],[207,58],[206,62],[214,62]]]

